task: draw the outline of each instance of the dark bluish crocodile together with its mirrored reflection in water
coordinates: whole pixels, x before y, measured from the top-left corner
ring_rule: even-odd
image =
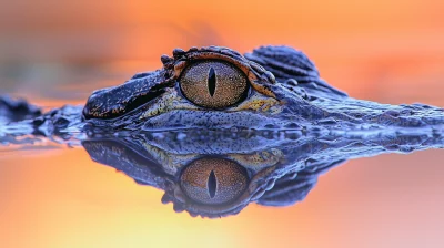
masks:
[[[203,217],[292,205],[350,158],[444,147],[442,107],[350,97],[289,46],[175,49],[161,61],[84,106],[44,113],[0,96],[0,144],[83,146],[164,190],[176,211]]]

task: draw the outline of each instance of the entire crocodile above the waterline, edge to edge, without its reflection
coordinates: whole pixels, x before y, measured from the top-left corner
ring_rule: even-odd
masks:
[[[443,130],[442,107],[350,97],[322,80],[302,51],[289,46],[261,46],[244,55],[222,46],[175,49],[161,61],[162,69],[94,91],[84,106],[67,105],[40,115],[31,107],[31,114],[21,116],[34,115],[21,121],[3,114],[0,136],[186,128]],[[13,112],[11,105],[0,101],[3,112]]]

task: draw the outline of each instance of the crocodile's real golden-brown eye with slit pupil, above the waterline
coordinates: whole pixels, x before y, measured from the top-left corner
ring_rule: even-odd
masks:
[[[180,78],[183,95],[195,105],[223,108],[246,97],[246,75],[223,61],[200,61],[188,66]]]

